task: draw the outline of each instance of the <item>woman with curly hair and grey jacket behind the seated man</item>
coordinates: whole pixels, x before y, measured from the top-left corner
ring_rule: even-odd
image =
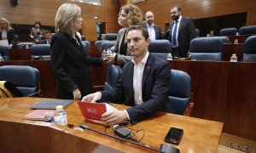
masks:
[[[107,58],[104,58],[104,62],[124,65],[131,60],[131,54],[126,42],[126,29],[130,26],[142,25],[143,14],[136,5],[127,4],[120,8],[118,22],[123,28],[119,30],[117,40],[113,48],[111,48],[113,54],[105,55]]]

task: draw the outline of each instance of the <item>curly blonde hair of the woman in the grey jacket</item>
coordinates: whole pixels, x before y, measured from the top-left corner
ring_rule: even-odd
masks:
[[[141,25],[143,23],[143,14],[140,8],[133,4],[127,4],[120,8],[119,14],[124,10],[127,14],[128,26]]]

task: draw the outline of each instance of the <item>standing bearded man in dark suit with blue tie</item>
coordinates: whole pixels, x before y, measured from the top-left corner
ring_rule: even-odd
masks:
[[[171,8],[172,23],[166,31],[166,38],[172,42],[172,57],[187,57],[189,42],[195,38],[195,25],[191,18],[181,15],[181,8]]]

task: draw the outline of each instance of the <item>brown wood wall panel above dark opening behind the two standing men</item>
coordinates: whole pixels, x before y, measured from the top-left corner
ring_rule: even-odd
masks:
[[[171,21],[170,8],[175,5],[182,7],[184,16],[201,19],[224,14],[247,12],[247,25],[256,25],[256,1],[254,0],[147,0],[136,3],[143,13],[154,12],[155,23],[164,30],[166,23]]]

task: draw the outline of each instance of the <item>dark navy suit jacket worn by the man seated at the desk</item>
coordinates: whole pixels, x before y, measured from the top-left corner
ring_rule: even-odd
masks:
[[[103,91],[101,101],[113,101],[133,106],[127,109],[132,123],[165,111],[171,81],[171,66],[164,59],[149,54],[143,71],[143,104],[134,106],[133,63],[129,61],[122,69],[116,88]]]

